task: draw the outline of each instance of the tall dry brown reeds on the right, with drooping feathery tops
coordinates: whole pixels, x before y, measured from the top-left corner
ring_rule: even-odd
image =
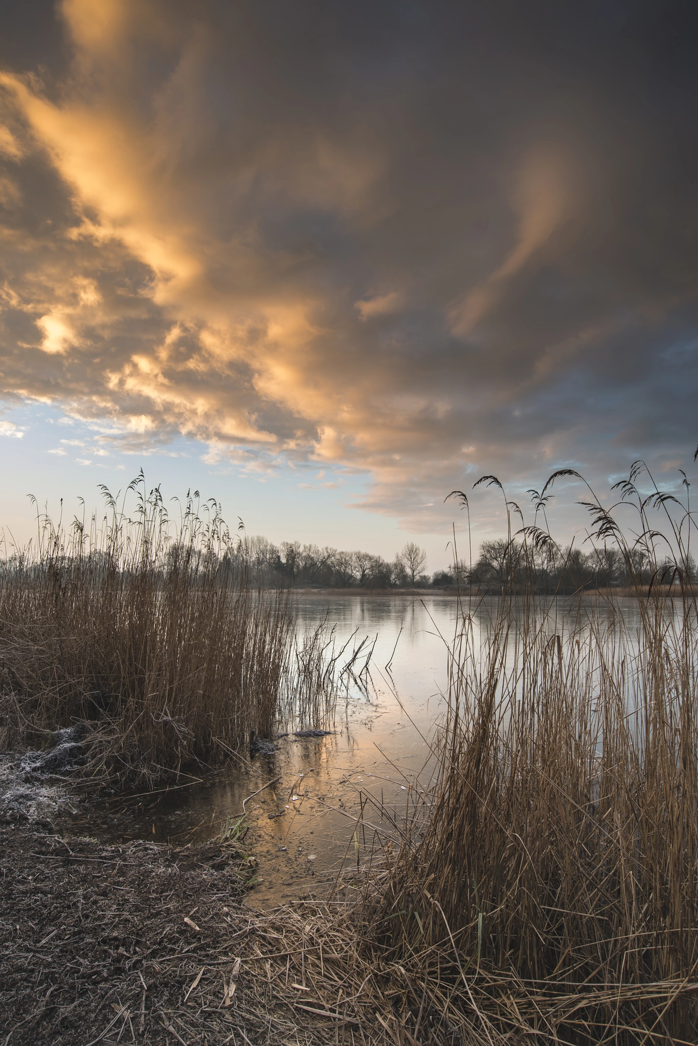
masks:
[[[586,503],[594,540],[652,566],[630,611],[612,593],[461,601],[432,788],[367,880],[368,951],[464,1041],[695,1042],[693,522],[655,487],[660,536],[637,476],[632,539],[617,505]],[[516,537],[532,564],[550,541]]]

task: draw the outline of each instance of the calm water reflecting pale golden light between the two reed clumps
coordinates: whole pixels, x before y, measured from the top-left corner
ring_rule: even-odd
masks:
[[[624,616],[632,620],[635,613],[628,600]],[[335,624],[337,646],[350,640],[347,654],[367,639],[357,673],[376,641],[368,672],[342,692],[332,734],[290,735],[277,742],[274,755],[257,755],[204,783],[119,802],[117,809],[111,804],[97,812],[90,832],[112,840],[203,841],[228,818],[240,817],[251,796],[244,848],[260,867],[248,903],[268,907],[327,890],[343,866],[356,862],[361,803],[368,800],[368,824],[380,820],[381,804],[401,816],[408,786],[428,780],[427,738],[444,712],[446,642],[456,627],[457,604],[446,595],[308,594],[299,599],[299,631],[315,628],[325,614]],[[485,620],[486,614],[476,621],[476,640]],[[365,839],[370,846],[369,835],[363,829],[362,845]]]

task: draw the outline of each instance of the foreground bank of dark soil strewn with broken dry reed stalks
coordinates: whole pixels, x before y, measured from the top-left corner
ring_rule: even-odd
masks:
[[[404,986],[357,998],[355,934],[327,906],[242,906],[234,847],[54,832],[0,825],[1,1046],[414,1043]],[[458,1042],[435,1016],[420,1042]]]

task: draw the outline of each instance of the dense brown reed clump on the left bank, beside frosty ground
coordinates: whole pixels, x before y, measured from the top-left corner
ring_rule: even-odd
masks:
[[[0,745],[87,720],[89,773],[137,783],[317,723],[322,644],[296,639],[288,590],[250,585],[220,506],[187,496],[172,518],[142,474],[104,494],[102,521],[38,515],[0,565]]]

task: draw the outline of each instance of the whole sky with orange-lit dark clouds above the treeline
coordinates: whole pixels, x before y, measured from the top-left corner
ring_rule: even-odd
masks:
[[[0,40],[2,523],[143,469],[449,559],[453,488],[698,441],[698,7],[32,0]],[[680,477],[678,477],[680,478]],[[554,526],[583,528],[572,485]],[[497,492],[471,497],[474,541]]]

